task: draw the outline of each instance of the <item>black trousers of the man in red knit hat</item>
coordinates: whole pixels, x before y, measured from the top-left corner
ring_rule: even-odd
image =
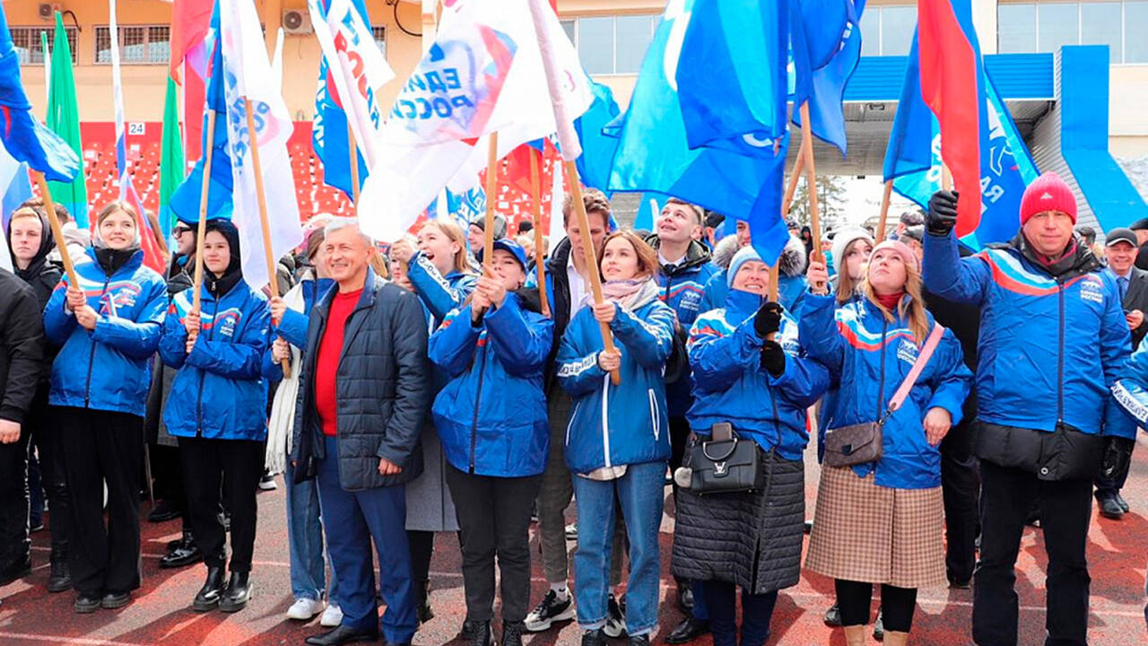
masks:
[[[1049,482],[1034,474],[980,461],[980,562],[972,584],[972,639],[980,646],[1017,640],[1016,555],[1024,521],[1037,502],[1048,577],[1046,646],[1084,646],[1088,630],[1092,482]]]

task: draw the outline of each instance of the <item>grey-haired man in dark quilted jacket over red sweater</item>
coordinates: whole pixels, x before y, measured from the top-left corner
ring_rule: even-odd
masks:
[[[319,480],[343,622],[307,643],[374,640],[381,623],[385,644],[410,644],[416,615],[404,485],[422,470],[418,438],[432,392],[426,320],[418,297],[371,270],[373,243],[354,220],[327,224],[324,246],[338,290],[311,309],[292,461],[297,479]],[[372,538],[387,605],[381,622]]]

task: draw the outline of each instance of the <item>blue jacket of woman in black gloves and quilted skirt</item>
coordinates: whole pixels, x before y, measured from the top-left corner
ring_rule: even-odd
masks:
[[[761,303],[758,294],[730,290],[724,308],[693,323],[687,346],[695,375],[690,428],[708,436],[715,423],[729,422],[762,449],[777,447],[785,460],[800,460],[809,443],[805,409],[829,387],[829,371],[802,356],[788,313],[774,337],[786,353],[785,371],[774,377],[761,368],[763,339],[753,329]]]

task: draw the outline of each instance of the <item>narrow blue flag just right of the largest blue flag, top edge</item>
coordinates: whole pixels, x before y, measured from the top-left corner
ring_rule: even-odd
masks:
[[[845,115],[841,98],[845,84],[861,60],[861,13],[864,0],[792,0],[800,10],[791,18],[801,21],[793,29],[793,123],[801,125],[798,107],[809,101],[809,130],[845,154]],[[843,11],[844,10],[844,11]],[[830,16],[830,17],[823,17]],[[836,32],[840,25],[840,31]],[[836,43],[836,45],[835,45]],[[825,55],[824,64],[815,61]]]

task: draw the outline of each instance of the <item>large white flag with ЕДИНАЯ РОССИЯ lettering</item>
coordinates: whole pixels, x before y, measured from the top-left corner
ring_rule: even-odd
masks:
[[[528,1],[457,0],[443,9],[434,44],[387,116],[358,205],[365,232],[394,241],[443,186],[473,186],[491,132],[502,157],[556,131]],[[585,72],[552,11],[545,29],[561,100],[577,117],[594,101]]]

